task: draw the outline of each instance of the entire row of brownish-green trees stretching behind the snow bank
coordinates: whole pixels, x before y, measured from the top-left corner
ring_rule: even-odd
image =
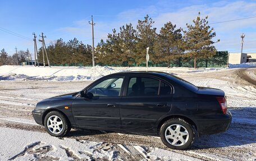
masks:
[[[147,15],[143,20],[138,20],[136,29],[131,23],[126,24],[118,31],[113,29],[105,41],[101,39],[95,47],[95,61],[102,66],[143,66],[146,48],[149,47],[152,66],[164,63],[170,67],[171,61],[193,59],[196,67],[197,59],[208,59],[216,54],[216,42],[212,40],[216,33],[208,25],[207,19],[208,16],[201,18],[199,12],[193,24],[186,24],[184,29],[166,22],[157,33],[157,29],[153,27],[154,21]],[[58,39],[50,43],[46,50],[53,65],[92,65],[92,46],[76,38],[68,42]],[[22,62],[27,58],[21,50],[12,59]],[[0,63],[2,60],[1,51]],[[39,49],[39,62],[43,62],[42,48]]]

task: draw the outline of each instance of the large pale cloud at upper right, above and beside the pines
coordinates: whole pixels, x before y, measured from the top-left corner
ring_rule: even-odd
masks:
[[[244,1],[232,3],[218,2],[211,5],[195,5],[184,7],[173,12],[161,13],[155,17],[154,20],[156,21],[155,25],[158,30],[167,21],[171,21],[178,27],[185,27],[186,23],[192,23],[192,20],[198,16],[198,12],[200,11],[201,17],[209,16],[208,20],[209,24],[211,24],[214,22],[256,16],[255,8],[256,3]],[[214,27],[214,31],[217,34],[216,39],[221,39],[221,42],[216,44],[216,48],[218,50],[233,50],[239,52],[241,33],[245,33],[246,35],[244,50],[256,50],[256,18],[212,24],[210,26]],[[248,32],[248,28],[250,28],[250,30],[254,30],[254,32]],[[246,41],[250,43],[246,43]]]

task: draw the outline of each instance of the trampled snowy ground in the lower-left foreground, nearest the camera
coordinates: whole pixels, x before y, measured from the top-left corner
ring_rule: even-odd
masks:
[[[0,127],[0,137],[4,138],[1,150],[1,160],[136,160],[130,155],[131,147],[121,144],[111,144],[106,142],[95,142],[63,138],[57,139],[42,132],[32,132]],[[19,137],[29,136],[29,137]],[[199,160],[173,151],[150,148],[147,151],[141,146],[133,146],[136,150],[138,160]],[[147,149],[146,149],[147,150]],[[118,151],[118,152],[117,152]],[[122,154],[123,153],[123,154]]]

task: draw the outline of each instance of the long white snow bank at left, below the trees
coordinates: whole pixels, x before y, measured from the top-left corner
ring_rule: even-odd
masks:
[[[111,67],[34,67],[34,66],[1,66],[0,80],[96,80],[102,76],[125,70]]]

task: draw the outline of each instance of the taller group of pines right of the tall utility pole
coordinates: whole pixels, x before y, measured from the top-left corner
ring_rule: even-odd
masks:
[[[102,65],[140,66],[145,63],[146,48],[152,65],[170,63],[177,59],[208,59],[216,54],[213,38],[214,29],[208,25],[208,16],[198,17],[193,24],[186,24],[185,29],[177,28],[167,22],[159,33],[153,27],[154,21],[148,15],[138,20],[136,29],[132,24],[120,27],[120,31],[112,30],[106,41],[100,40],[95,50],[98,63]],[[217,40],[219,42],[220,40]]]

